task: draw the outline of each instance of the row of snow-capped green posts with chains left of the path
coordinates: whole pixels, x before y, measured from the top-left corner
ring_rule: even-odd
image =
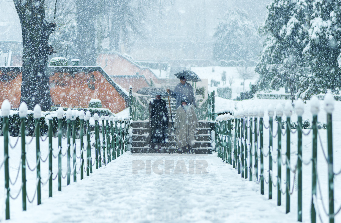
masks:
[[[92,166],[95,165],[95,168],[98,169],[106,163],[115,160],[119,156],[123,155],[123,152],[127,152],[128,146],[128,132],[129,132],[129,117],[124,118],[122,120],[121,117],[113,117],[113,116],[102,116],[99,117],[97,113],[95,113],[92,117],[94,121],[94,131],[90,132],[90,119],[91,114],[90,111],[87,111],[84,114],[84,111],[76,111],[68,109],[64,112],[63,108],[59,108],[57,111],[58,118],[58,130],[57,134],[53,133],[53,126],[56,123],[53,123],[53,118],[51,115],[47,116],[48,120],[48,131],[47,134],[41,136],[40,126],[41,124],[41,108],[39,105],[36,105],[33,110],[33,117],[35,120],[34,124],[34,133],[30,140],[27,140],[26,137],[26,119],[27,119],[27,105],[25,102],[22,102],[19,106],[19,117],[20,117],[20,134],[17,137],[10,137],[9,132],[9,115],[10,115],[11,105],[8,100],[4,100],[1,106],[2,116],[3,116],[3,126],[1,126],[0,136],[3,134],[4,141],[4,158],[0,161],[0,170],[4,169],[4,178],[5,178],[5,219],[10,219],[10,198],[16,199],[20,193],[22,194],[23,201],[23,210],[27,209],[27,201],[32,203],[35,198],[37,199],[38,205],[41,204],[41,186],[48,186],[48,194],[49,197],[52,197],[52,185],[53,180],[57,179],[58,181],[58,190],[61,191],[62,187],[62,178],[66,178],[66,184],[70,184],[70,176],[73,175],[73,181],[76,182],[77,175],[80,175],[80,179],[84,178],[84,173],[87,176],[92,173]],[[66,116],[67,122],[67,130],[66,134],[63,136],[62,131],[62,121]],[[80,128],[76,131],[76,118],[79,120]],[[92,121],[92,120],[91,120]],[[78,122],[78,121],[77,121]],[[102,122],[101,128],[99,126],[99,122]],[[100,137],[100,130],[102,132],[102,144]],[[85,133],[85,137],[84,137]],[[58,138],[53,140],[53,138]],[[72,138],[72,145],[71,145]],[[76,138],[80,141],[79,151],[76,149]],[[86,143],[84,145],[84,138],[86,138]],[[93,143],[91,143],[91,138],[93,138]],[[12,144],[11,140],[16,140],[14,144]],[[21,146],[19,143],[19,139],[21,142]],[[35,139],[35,162],[31,166],[29,165],[29,158],[32,157],[31,152],[27,152],[26,147],[31,147],[30,144]],[[48,140],[48,145],[47,142]],[[55,143],[53,143],[55,141]],[[62,142],[65,144],[66,141],[66,149],[62,147]],[[44,144],[40,146],[40,144]],[[71,148],[72,146],[72,148]],[[21,158],[15,157],[15,151],[18,151],[21,147]],[[12,148],[9,150],[9,148]],[[57,153],[54,153],[54,149],[57,149]],[[32,151],[32,150],[31,150]],[[85,153],[84,153],[85,152]],[[44,156],[42,156],[42,153]],[[94,154],[94,159],[92,158]],[[18,153],[17,153],[18,154]],[[101,155],[103,154],[103,155]],[[71,164],[71,158],[73,159],[73,164]],[[18,166],[18,172],[16,174],[16,179],[10,178],[10,162],[11,160],[18,159],[20,164]],[[58,168],[53,171],[53,163],[55,163],[54,159],[58,159]],[[66,171],[65,174],[62,174],[62,159],[63,165],[65,166],[66,162]],[[85,163],[84,163],[85,161]],[[32,162],[32,161],[31,161]],[[41,168],[41,164],[44,168]],[[48,164],[48,165],[47,165]],[[77,164],[79,164],[79,168],[77,168]],[[13,164],[12,164],[13,165]],[[21,165],[21,168],[20,168]],[[55,165],[56,166],[56,165]],[[46,168],[46,172],[43,169]],[[11,168],[13,169],[13,168]],[[36,181],[35,181],[35,190],[32,196],[28,196],[26,191],[26,170],[36,171]],[[21,170],[22,182],[20,189],[17,191],[11,188],[15,187],[16,181],[18,179],[19,173]],[[56,174],[54,174],[56,172]],[[46,179],[42,180],[41,173],[47,176]],[[47,174],[48,173],[48,174]],[[13,194],[15,191],[15,195]]]

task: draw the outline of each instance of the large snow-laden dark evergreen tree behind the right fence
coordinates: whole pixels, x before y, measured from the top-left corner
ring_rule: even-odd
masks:
[[[340,91],[340,2],[274,0],[256,66],[261,89],[285,87],[302,98]]]

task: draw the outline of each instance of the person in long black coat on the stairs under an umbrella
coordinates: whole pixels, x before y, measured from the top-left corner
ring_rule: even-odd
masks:
[[[157,95],[149,102],[149,134],[150,146],[155,143],[165,143],[168,134],[168,111],[166,102]]]

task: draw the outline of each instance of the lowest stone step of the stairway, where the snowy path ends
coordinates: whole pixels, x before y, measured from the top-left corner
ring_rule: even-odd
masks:
[[[212,148],[192,148],[181,150],[175,147],[161,147],[161,149],[152,150],[149,147],[133,147],[131,148],[132,153],[186,153],[186,154],[211,154]]]

